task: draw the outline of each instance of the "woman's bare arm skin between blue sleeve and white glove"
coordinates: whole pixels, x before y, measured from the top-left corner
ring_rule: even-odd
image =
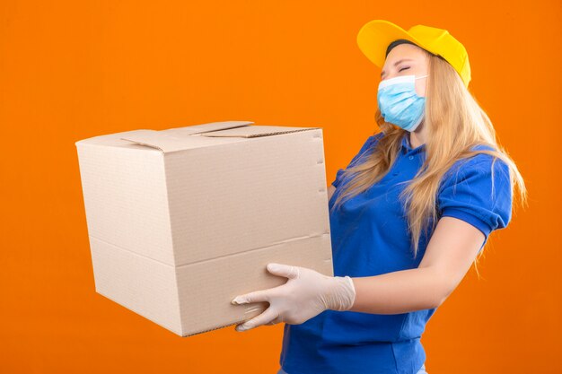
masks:
[[[356,300],[350,310],[399,314],[437,308],[461,283],[483,241],[470,223],[441,218],[418,268],[352,278]]]

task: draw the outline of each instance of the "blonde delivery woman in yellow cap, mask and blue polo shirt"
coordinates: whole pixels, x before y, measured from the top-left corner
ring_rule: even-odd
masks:
[[[279,374],[426,373],[428,319],[511,220],[514,161],[468,91],[470,65],[447,30],[382,20],[357,35],[382,67],[376,122],[329,188],[334,277],[268,264],[281,286],[233,303],[269,308],[237,331],[285,322]]]

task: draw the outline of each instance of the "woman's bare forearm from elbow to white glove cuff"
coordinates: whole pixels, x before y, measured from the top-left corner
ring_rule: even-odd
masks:
[[[356,300],[351,311],[400,314],[436,308],[446,297],[443,277],[429,267],[352,278]]]

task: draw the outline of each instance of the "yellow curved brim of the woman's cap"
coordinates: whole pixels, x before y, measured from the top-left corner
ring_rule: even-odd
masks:
[[[386,60],[386,48],[396,39],[407,39],[417,46],[419,41],[407,30],[385,20],[367,22],[357,33],[357,45],[374,65],[382,68]]]

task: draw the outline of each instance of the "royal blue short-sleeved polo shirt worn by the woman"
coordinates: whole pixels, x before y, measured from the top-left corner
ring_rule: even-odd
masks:
[[[373,152],[382,135],[370,136],[350,165]],[[417,268],[431,232],[422,234],[413,258],[398,195],[407,184],[400,182],[414,178],[424,160],[425,144],[412,149],[406,133],[391,170],[332,212],[340,190],[336,188],[329,200],[334,275],[364,277]],[[457,161],[443,177],[437,199],[439,217],[469,222],[483,232],[484,243],[492,230],[505,228],[511,219],[507,166],[496,160],[492,190],[491,161],[492,156],[482,153]],[[342,173],[338,170],[335,187],[347,183]],[[415,374],[426,361],[420,338],[434,313],[435,309],[393,315],[325,310],[301,325],[285,324],[279,363],[288,374]]]

